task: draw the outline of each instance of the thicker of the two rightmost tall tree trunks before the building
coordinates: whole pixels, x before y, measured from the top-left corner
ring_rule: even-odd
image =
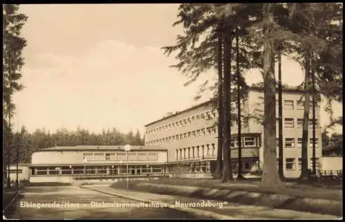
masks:
[[[308,127],[309,127],[309,112],[310,112],[310,88],[309,88],[309,75],[310,75],[310,54],[307,51],[305,53],[305,76],[304,76],[304,115],[303,115],[303,132],[302,132],[302,173],[301,179],[308,179]]]

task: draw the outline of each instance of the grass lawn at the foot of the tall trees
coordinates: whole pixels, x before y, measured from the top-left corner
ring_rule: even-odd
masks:
[[[143,192],[156,192],[154,188],[138,186],[138,183],[158,183],[168,185],[187,185],[200,188],[219,188],[221,190],[244,190],[248,192],[260,192],[260,193],[279,193],[288,194],[290,196],[304,197],[304,198],[316,198],[316,199],[330,199],[330,200],[342,200],[342,188],[337,190],[329,190],[325,188],[315,188],[308,184],[299,185],[298,183],[293,187],[284,187],[279,189],[274,188],[259,188],[258,180],[248,181],[232,181],[231,183],[220,183],[216,179],[172,179],[161,178],[158,180],[150,181],[130,181],[130,189],[140,190]],[[248,184],[248,186],[246,186]],[[110,185],[112,188],[126,189],[126,181],[119,181]],[[144,190],[143,190],[144,189]]]

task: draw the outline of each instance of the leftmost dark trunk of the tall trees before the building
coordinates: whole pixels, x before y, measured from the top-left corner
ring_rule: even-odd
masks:
[[[222,85],[223,85],[223,39],[221,33],[221,24],[218,31],[218,148],[217,148],[217,168],[215,178],[221,179],[222,159],[223,159],[223,109],[222,109]]]

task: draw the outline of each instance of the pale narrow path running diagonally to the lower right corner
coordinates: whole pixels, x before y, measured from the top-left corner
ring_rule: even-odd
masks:
[[[154,203],[168,203],[171,207],[181,210],[185,208],[188,212],[195,214],[205,215],[208,212],[209,216],[215,214],[215,219],[337,219],[337,216],[325,215],[325,214],[313,214],[308,212],[298,212],[293,210],[280,210],[273,208],[265,208],[254,205],[239,205],[235,203],[227,203],[221,201],[210,201],[202,199],[193,199],[181,196],[170,196],[161,194],[151,194],[146,192],[136,192],[113,189],[109,187],[92,187],[90,189],[98,190],[99,192],[105,192],[108,194],[115,194],[124,196],[126,198],[134,198],[141,201],[153,201]],[[190,204],[199,203],[199,205],[181,205],[180,203]],[[206,203],[205,207],[201,203]],[[201,211],[201,212],[198,212]]]

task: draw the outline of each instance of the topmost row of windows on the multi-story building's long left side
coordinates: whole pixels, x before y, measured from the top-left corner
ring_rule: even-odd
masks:
[[[175,127],[190,125],[190,124],[196,123],[197,121],[210,120],[216,117],[217,117],[217,110],[206,111],[206,112],[202,112],[201,114],[196,114],[191,117],[186,117],[185,119],[182,119],[179,121],[174,121],[172,123],[167,123],[161,126],[157,126],[156,128],[153,128],[152,130],[147,130],[146,134],[159,132],[161,130],[170,130]]]

